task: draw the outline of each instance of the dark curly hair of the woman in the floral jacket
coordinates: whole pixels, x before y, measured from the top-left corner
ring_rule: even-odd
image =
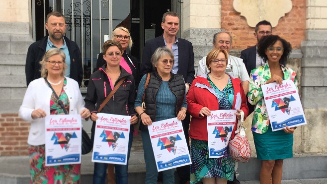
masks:
[[[273,46],[278,40],[282,43],[283,48],[284,48],[284,52],[283,52],[283,55],[282,55],[279,63],[283,63],[283,61],[286,61],[287,57],[292,52],[292,46],[289,42],[282,39],[278,35],[267,35],[267,36],[262,37],[262,39],[258,43],[259,56],[261,58],[264,58],[267,61],[268,57],[267,57],[265,51],[267,50],[268,47]]]

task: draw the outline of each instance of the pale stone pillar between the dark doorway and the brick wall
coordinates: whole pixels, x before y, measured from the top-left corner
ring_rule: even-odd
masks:
[[[184,0],[182,38],[192,42],[195,72],[213,48],[213,35],[221,29],[221,0]]]

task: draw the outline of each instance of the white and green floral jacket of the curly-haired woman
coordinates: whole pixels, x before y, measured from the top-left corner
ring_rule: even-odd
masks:
[[[280,65],[284,73],[283,80],[290,79],[295,86],[298,85],[298,79],[293,69]],[[266,105],[263,98],[261,85],[265,84],[271,78],[268,63],[254,68],[250,74],[249,91],[247,93],[248,102],[255,105],[254,115],[252,119],[251,130],[256,133],[265,133],[268,129],[269,119]]]

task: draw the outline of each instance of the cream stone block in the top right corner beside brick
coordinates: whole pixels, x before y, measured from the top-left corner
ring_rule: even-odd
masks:
[[[307,0],[307,29],[327,29],[327,0]]]

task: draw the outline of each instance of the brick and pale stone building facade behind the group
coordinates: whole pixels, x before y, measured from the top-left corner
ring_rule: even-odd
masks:
[[[33,42],[28,2],[0,2],[0,156],[28,154],[29,123],[17,115],[26,90],[24,64],[27,48]],[[273,34],[291,42],[295,49],[287,65],[300,77],[300,95],[308,121],[294,134],[295,152],[327,152],[323,141],[327,128],[326,8],[326,0],[292,0],[291,11],[273,28]],[[212,49],[212,37],[216,32],[231,32],[233,56],[239,57],[241,50],[256,43],[254,28],[248,26],[245,17],[234,9],[233,0],[184,0],[182,12],[183,30],[180,31],[182,38],[193,43],[196,68],[198,61]],[[245,125],[254,149],[250,124],[251,116]]]

